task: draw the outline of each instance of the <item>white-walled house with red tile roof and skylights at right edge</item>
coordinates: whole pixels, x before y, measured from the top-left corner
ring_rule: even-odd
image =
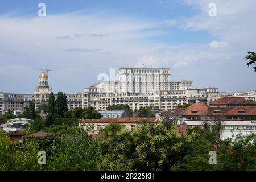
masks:
[[[232,137],[232,134],[256,133],[256,106],[212,107],[195,103],[184,111],[183,122],[192,127],[220,123],[221,138]]]

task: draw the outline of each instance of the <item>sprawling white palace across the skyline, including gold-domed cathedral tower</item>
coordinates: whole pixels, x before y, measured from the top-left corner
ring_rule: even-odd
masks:
[[[245,93],[220,93],[218,88],[193,89],[192,81],[170,81],[170,68],[120,68],[119,81],[100,81],[84,88],[82,92],[67,95],[69,109],[89,106],[106,110],[108,105],[127,104],[132,110],[155,106],[159,110],[170,110],[189,101],[210,101],[222,96],[245,97],[255,101],[256,91]],[[7,110],[23,110],[30,101],[38,107],[47,103],[52,87],[48,75],[42,72],[39,86],[32,94],[0,92],[0,114]]]

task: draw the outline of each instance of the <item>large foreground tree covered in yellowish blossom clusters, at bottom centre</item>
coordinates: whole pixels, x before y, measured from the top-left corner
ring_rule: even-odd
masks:
[[[132,132],[135,144],[133,169],[174,170],[187,154],[191,137],[177,132],[177,126],[167,129],[163,123],[146,123]]]

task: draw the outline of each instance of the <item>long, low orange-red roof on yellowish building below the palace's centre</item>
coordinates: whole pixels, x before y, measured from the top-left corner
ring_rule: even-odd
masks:
[[[143,122],[144,120],[148,122],[156,122],[159,118],[103,118],[103,119],[81,119],[80,123],[135,123]]]

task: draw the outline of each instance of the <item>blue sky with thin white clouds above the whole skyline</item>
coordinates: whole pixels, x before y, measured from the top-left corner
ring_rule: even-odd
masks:
[[[39,17],[39,3],[46,16]],[[217,16],[209,16],[209,4]],[[121,67],[170,68],[171,81],[220,92],[256,90],[254,0],[2,1],[0,92],[33,93],[40,70],[53,92],[82,91]]]

